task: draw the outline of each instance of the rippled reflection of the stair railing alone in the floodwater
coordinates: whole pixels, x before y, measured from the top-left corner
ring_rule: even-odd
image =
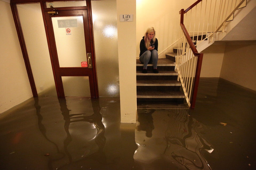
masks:
[[[213,148],[211,148],[211,145],[206,140],[199,136],[202,124],[191,118],[187,114],[187,110],[173,111],[175,113],[169,115],[170,120],[165,132],[167,147],[164,154],[170,154],[173,159],[187,169],[210,170],[211,167],[202,156],[201,151],[205,149],[211,153]],[[175,150],[171,149],[170,145],[181,145],[182,151],[175,152]],[[184,153],[182,154],[181,152]]]

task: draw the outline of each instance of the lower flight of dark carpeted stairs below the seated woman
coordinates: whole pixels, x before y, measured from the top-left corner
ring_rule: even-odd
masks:
[[[166,58],[158,59],[158,74],[153,73],[153,64],[147,65],[146,74],[142,73],[143,64],[137,59],[137,108],[188,107],[177,80],[175,55],[177,53],[166,53]]]

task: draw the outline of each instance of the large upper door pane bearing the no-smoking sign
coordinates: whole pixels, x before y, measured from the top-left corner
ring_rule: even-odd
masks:
[[[86,62],[83,16],[52,17],[59,67],[81,67]]]

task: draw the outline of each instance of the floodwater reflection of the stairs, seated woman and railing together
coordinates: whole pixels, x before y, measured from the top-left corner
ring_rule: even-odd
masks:
[[[157,165],[164,164],[158,168],[210,170],[205,156],[210,155],[214,149],[203,138],[206,127],[188,113],[189,110],[184,109],[170,109],[169,112],[138,110],[135,131],[138,149],[134,154],[134,160],[148,168],[157,168]],[[155,133],[152,133],[153,129]],[[146,137],[141,137],[140,130],[146,131]]]

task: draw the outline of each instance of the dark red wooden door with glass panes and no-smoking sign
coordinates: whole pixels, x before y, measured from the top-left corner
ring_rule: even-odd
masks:
[[[98,97],[88,11],[46,11],[45,16],[58,96]]]

